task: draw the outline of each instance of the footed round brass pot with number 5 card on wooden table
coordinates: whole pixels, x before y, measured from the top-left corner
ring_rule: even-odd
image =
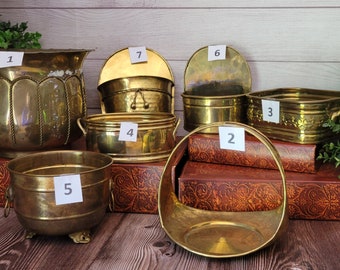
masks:
[[[70,150],[9,161],[10,199],[27,237],[70,235],[75,242],[89,242],[86,232],[101,222],[110,203],[112,162],[104,154]],[[62,175],[80,176],[82,202],[56,205],[54,177]]]

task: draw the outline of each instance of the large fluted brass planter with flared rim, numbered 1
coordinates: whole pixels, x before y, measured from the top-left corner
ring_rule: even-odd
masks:
[[[25,50],[21,66],[0,68],[0,156],[62,148],[81,136],[89,52]]]

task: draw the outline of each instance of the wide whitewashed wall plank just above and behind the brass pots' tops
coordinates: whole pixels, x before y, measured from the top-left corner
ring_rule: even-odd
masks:
[[[45,48],[94,48],[91,59],[147,46],[168,60],[211,44],[237,48],[251,61],[340,61],[340,8],[313,9],[0,9],[29,21]],[[42,23],[44,22],[44,23]]]

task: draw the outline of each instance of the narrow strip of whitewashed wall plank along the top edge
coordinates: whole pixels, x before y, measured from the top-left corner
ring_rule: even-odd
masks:
[[[5,8],[263,8],[263,7],[339,7],[337,0],[80,0],[80,1],[45,1],[45,0],[2,0],[1,7]]]

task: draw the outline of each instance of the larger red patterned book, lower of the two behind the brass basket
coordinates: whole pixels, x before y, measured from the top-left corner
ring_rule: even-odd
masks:
[[[340,168],[315,174],[286,172],[289,217],[340,220]],[[187,161],[178,178],[184,204],[214,211],[274,209],[282,200],[278,170]]]

